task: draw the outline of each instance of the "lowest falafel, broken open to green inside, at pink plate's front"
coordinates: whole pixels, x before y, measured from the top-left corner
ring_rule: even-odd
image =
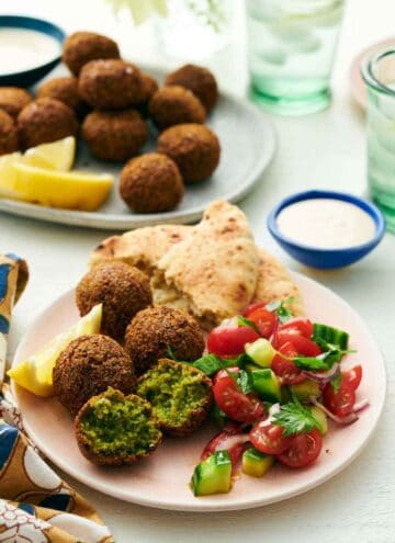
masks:
[[[147,456],[162,437],[148,401],[111,387],[81,407],[75,431],[83,456],[94,464],[113,466]]]

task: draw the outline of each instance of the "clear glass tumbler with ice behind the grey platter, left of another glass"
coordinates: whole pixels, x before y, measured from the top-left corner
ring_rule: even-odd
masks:
[[[345,0],[246,0],[251,98],[285,115],[330,103]]]

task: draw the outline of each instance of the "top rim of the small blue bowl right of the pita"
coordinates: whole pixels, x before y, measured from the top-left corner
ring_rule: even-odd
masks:
[[[276,217],[285,207],[296,203],[302,202],[304,200],[313,200],[313,199],[329,199],[329,200],[340,200],[343,202],[348,202],[357,207],[360,207],[362,211],[368,213],[370,217],[372,217],[375,225],[375,235],[366,242],[360,245],[353,245],[349,247],[342,248],[327,248],[324,249],[321,247],[315,247],[311,245],[304,245],[295,241],[292,238],[289,238],[284,234],[282,234],[276,225]],[[327,191],[327,190],[308,190],[303,192],[296,192],[285,199],[281,200],[279,204],[276,204],[273,210],[270,212],[267,220],[267,226],[270,234],[281,241],[282,244],[293,248],[293,249],[302,249],[306,252],[316,252],[319,254],[350,254],[359,251],[363,251],[366,249],[373,249],[383,238],[385,234],[385,217],[383,213],[379,210],[376,205],[368,200],[356,196],[353,194],[347,192],[338,192],[338,191]]]

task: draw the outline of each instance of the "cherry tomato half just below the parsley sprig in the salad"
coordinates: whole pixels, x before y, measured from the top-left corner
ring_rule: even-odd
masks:
[[[289,438],[290,439],[290,438]],[[291,438],[286,451],[279,454],[282,464],[290,467],[305,467],[318,457],[323,449],[323,437],[317,429]]]

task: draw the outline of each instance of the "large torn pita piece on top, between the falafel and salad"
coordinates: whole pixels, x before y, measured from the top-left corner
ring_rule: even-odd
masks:
[[[258,252],[247,217],[216,201],[159,260],[151,280],[154,303],[188,309],[211,327],[242,312],[257,279]]]

